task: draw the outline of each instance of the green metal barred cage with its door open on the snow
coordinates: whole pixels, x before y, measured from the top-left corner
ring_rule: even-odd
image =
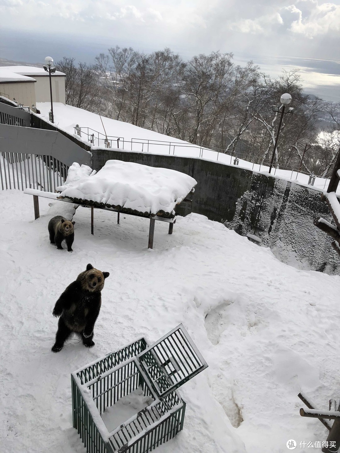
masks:
[[[208,365],[182,324],[151,347],[140,338],[71,374],[73,428],[90,453],[146,453],[183,429],[177,388]],[[137,389],[152,400],[108,431],[102,414]]]

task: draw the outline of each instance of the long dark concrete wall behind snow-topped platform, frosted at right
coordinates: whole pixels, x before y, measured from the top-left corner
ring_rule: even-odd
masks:
[[[313,224],[316,217],[332,222],[321,191],[255,173],[234,165],[179,156],[92,149],[92,168],[108,159],[164,167],[189,174],[197,181],[192,211],[223,222],[239,234],[261,238],[278,259],[300,269],[340,273],[332,240]],[[178,212],[183,215],[182,212]]]

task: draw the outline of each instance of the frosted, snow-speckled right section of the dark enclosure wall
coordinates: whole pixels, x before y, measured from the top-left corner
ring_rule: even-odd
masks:
[[[332,239],[313,224],[318,217],[334,224],[321,192],[254,173],[251,189],[238,198],[233,220],[224,224],[243,236],[251,233],[260,237],[262,245],[270,247],[284,263],[339,274],[339,256],[331,247]]]

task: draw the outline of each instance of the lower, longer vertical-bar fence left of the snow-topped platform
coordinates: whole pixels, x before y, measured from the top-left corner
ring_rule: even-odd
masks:
[[[34,188],[55,192],[68,174],[68,166],[49,155],[0,151],[2,190]]]

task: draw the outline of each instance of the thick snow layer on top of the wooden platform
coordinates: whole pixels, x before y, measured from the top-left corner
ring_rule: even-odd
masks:
[[[146,215],[174,214],[175,205],[197,184],[194,178],[179,171],[121,160],[108,160],[96,174],[78,181],[74,178],[81,170],[79,164],[73,164],[71,169],[74,182],[66,188],[57,188],[63,189],[61,198],[92,201]]]

